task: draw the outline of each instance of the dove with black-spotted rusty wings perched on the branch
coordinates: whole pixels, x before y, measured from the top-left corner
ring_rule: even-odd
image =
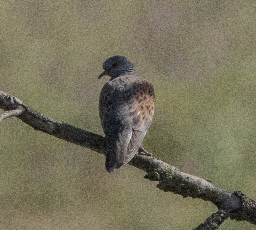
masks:
[[[142,147],[155,109],[153,85],[141,78],[126,57],[113,56],[103,63],[110,80],[99,98],[99,115],[106,136],[108,172],[120,168],[138,154],[152,155]]]

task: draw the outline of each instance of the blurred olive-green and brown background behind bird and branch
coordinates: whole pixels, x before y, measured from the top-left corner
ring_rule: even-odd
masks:
[[[105,59],[126,56],[155,87],[144,148],[256,199],[255,11],[255,0],[0,1],[0,90],[103,135],[98,97],[109,78],[97,77]],[[0,130],[0,229],[180,230],[217,211],[132,166],[109,174],[104,156],[17,118]]]

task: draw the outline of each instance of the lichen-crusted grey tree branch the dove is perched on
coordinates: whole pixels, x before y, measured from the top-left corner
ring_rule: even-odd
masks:
[[[16,97],[2,91],[0,91],[0,108],[5,111],[0,115],[0,121],[16,116],[35,130],[105,154],[104,137],[46,117]],[[144,176],[146,179],[159,181],[157,187],[165,192],[200,198],[215,204],[219,209],[218,212],[195,228],[197,230],[217,229],[228,217],[237,221],[246,220],[256,225],[256,202],[247,198],[242,192],[227,192],[210,181],[181,172],[153,156],[136,155],[129,164],[144,170],[147,173]]]

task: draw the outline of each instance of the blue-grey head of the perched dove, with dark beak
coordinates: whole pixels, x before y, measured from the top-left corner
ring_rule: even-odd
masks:
[[[132,72],[134,65],[123,56],[113,56],[108,58],[102,65],[104,72],[99,76],[108,75],[111,79],[121,76],[123,73]]]

